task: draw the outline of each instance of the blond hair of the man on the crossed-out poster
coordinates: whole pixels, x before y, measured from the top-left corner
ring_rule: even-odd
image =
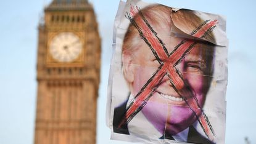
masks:
[[[160,4],[147,6],[142,9],[141,12],[155,31],[165,31],[168,36],[171,36],[171,28],[173,23],[184,33],[191,34],[192,31],[194,31],[204,22],[204,20],[194,14],[192,10],[181,9],[174,12],[171,7]],[[133,20],[137,22],[140,17],[141,15],[136,14],[133,17]],[[214,41],[213,34],[209,33],[209,36],[207,36],[206,39],[209,39],[209,41]],[[122,54],[133,57],[134,52],[141,47],[142,42],[143,41],[138,30],[134,25],[130,24],[128,26],[128,30],[126,31],[125,38],[123,39]],[[215,50],[212,44],[209,42],[202,42],[200,44],[205,46],[205,49],[202,49],[202,57],[204,57],[207,61],[207,70],[204,74],[212,75],[214,59],[213,54]]]

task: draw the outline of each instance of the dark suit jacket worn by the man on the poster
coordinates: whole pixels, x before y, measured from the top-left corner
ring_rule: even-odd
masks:
[[[128,124],[125,122],[121,127],[118,128],[118,125],[121,121],[121,119],[125,116],[126,111],[126,104],[128,102],[128,99],[123,102],[120,106],[117,106],[114,110],[114,119],[113,119],[113,130],[115,133],[119,134],[126,134],[129,135],[128,130]],[[169,140],[175,140],[170,134],[165,134],[165,136],[160,137],[160,139],[169,139]],[[197,132],[197,130],[193,127],[189,127],[188,132],[188,142],[189,143],[202,143],[202,144],[213,144],[210,140],[203,137],[202,135]]]

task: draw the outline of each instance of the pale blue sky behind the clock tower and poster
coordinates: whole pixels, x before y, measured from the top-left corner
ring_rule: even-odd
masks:
[[[256,46],[254,0],[144,0],[172,7],[225,15],[229,38],[228,89],[226,93],[226,143],[256,143]],[[0,12],[0,143],[32,144],[36,106],[36,50],[38,22],[51,0],[1,1]],[[91,0],[102,37],[101,86],[98,98],[97,143],[110,140],[105,126],[107,79],[112,54],[112,29],[118,0]]]

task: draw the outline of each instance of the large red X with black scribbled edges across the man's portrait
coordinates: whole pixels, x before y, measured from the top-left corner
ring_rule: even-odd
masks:
[[[213,129],[207,116],[202,111],[202,108],[200,107],[197,98],[192,93],[191,88],[188,86],[188,84],[186,84],[186,82],[184,82],[182,74],[177,68],[175,68],[175,66],[178,65],[184,59],[184,57],[186,57],[186,55],[197,44],[197,42],[191,40],[183,40],[180,42],[180,44],[178,44],[178,46],[175,47],[171,54],[168,54],[168,51],[165,48],[165,44],[163,44],[162,40],[158,38],[157,33],[155,33],[155,31],[149,25],[142,12],[138,9],[138,7],[136,10],[131,7],[130,14],[132,17],[134,17],[137,12],[139,12],[140,17],[136,22],[133,20],[133,18],[130,17],[129,14],[127,14],[126,17],[130,19],[131,23],[139,31],[141,38],[144,39],[146,44],[150,47],[153,54],[155,55],[155,58],[157,58],[158,62],[160,63],[160,66],[138,92],[138,94],[134,97],[134,100],[126,110],[126,115],[120,122],[119,127],[125,124],[125,122],[130,122],[131,119],[133,119],[133,117],[144,107],[144,105],[146,105],[149,98],[151,98],[154,92],[157,90],[157,87],[159,86],[163,77],[167,75],[170,79],[173,89],[176,90],[180,97],[182,97],[186,104],[189,106],[191,111],[195,114],[207,137],[209,137],[210,140],[214,140],[215,136]],[[209,20],[198,26],[196,30],[192,31],[191,35],[197,38],[204,38],[207,36],[207,34],[212,32],[213,28],[216,27],[217,20],[213,20],[209,23],[208,22]],[[192,98],[192,100],[188,101],[185,97],[183,97],[183,95],[189,95],[189,98]],[[198,109],[202,111],[200,117],[198,117],[195,112]]]

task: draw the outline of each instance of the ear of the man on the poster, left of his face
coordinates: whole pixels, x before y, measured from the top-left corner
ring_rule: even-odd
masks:
[[[123,54],[122,55],[123,62],[123,75],[127,82],[131,83],[134,81],[134,65],[133,58],[131,55]]]

